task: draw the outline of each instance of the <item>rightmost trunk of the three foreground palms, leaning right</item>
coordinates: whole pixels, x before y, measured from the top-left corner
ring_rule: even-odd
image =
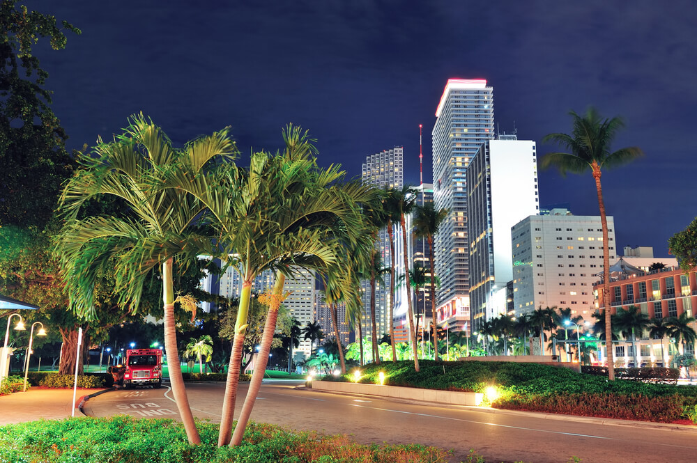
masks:
[[[274,295],[281,295],[283,293],[283,283],[285,283],[285,281],[286,276],[284,274],[278,273],[276,275],[276,284],[273,288]],[[232,441],[230,442],[231,447],[242,444],[242,437],[245,434],[247,423],[250,421],[252,409],[254,408],[254,402],[256,402],[256,395],[259,394],[259,389],[261,389],[261,380],[263,379],[264,373],[266,373],[266,365],[268,364],[268,354],[271,351],[273,333],[276,331],[277,317],[278,308],[273,307],[273,304],[270,304],[268,313],[266,315],[266,324],[263,327],[263,334],[261,335],[261,348],[259,349],[259,354],[256,356],[256,364],[254,365],[254,372],[252,373],[250,389],[247,390],[245,403],[242,406],[242,411],[240,411],[239,418],[237,418],[235,432],[233,433]]]

